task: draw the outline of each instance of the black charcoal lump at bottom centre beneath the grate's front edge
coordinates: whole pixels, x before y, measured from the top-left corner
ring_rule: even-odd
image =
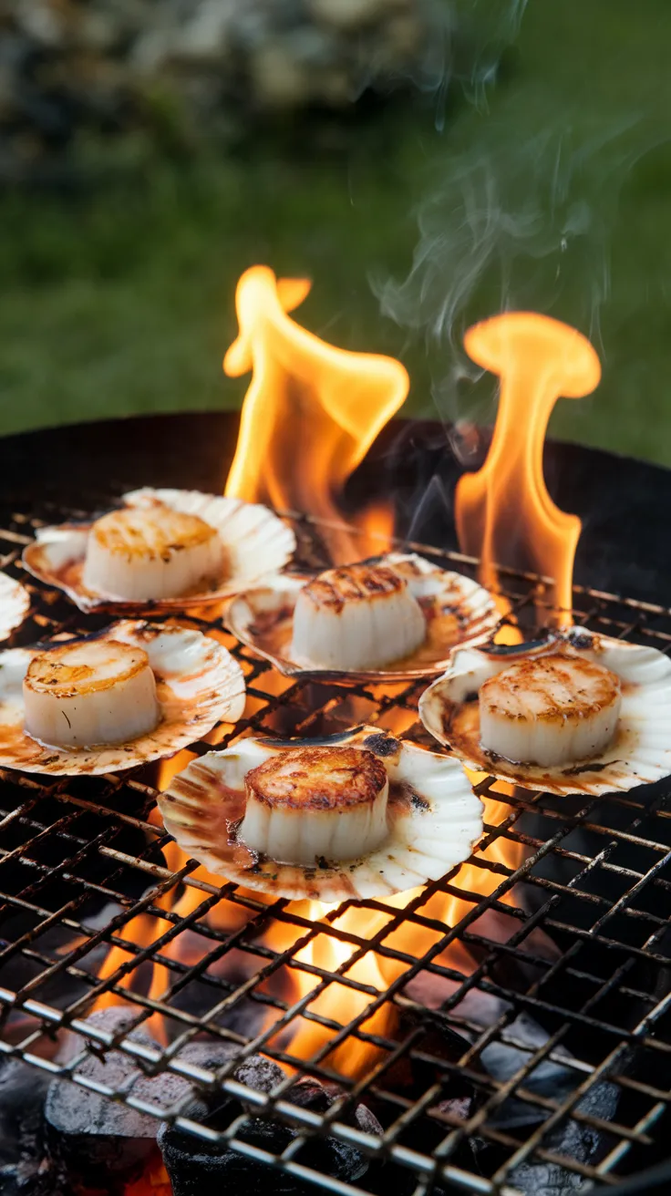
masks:
[[[245,1060],[234,1075],[242,1084],[260,1092],[270,1092],[285,1079],[285,1073],[276,1063],[261,1056]],[[324,1113],[337,1096],[338,1090],[327,1088],[318,1080],[310,1079],[297,1081],[287,1092],[286,1099],[304,1109]],[[213,1129],[224,1130],[245,1111],[248,1110],[243,1104],[231,1099],[222,1100],[221,1093],[214,1093],[207,1098],[196,1098],[184,1110],[184,1115]],[[347,1119],[344,1112],[342,1119]],[[356,1105],[349,1119],[365,1133],[382,1133],[379,1122],[364,1105]],[[236,1137],[279,1155],[295,1140],[297,1131],[279,1121],[248,1115],[236,1128]],[[175,1125],[160,1127],[158,1143],[173,1196],[208,1196],[209,1192],[220,1196],[225,1189],[244,1190],[245,1196],[264,1192],[309,1196],[313,1192],[311,1185],[300,1183],[285,1172],[245,1158],[226,1145],[206,1142],[185,1134]],[[300,1149],[297,1161],[343,1183],[354,1183],[368,1170],[368,1160],[360,1151],[331,1139],[310,1140]]]

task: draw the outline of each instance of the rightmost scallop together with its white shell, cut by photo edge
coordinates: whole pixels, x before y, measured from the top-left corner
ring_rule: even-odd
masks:
[[[671,660],[584,628],[458,648],[420,698],[466,767],[550,793],[626,792],[671,773]]]

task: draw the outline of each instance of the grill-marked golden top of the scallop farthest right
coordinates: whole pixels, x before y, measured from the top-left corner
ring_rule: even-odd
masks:
[[[480,707],[501,719],[579,721],[612,706],[620,678],[584,657],[561,652],[519,660],[480,688]]]

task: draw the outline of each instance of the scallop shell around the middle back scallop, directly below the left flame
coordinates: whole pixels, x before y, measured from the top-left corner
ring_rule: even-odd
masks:
[[[409,681],[444,672],[456,643],[492,633],[499,621],[492,594],[460,573],[441,569],[415,553],[388,553],[368,563],[386,565],[408,582],[427,617],[423,643],[384,669],[337,670],[307,667],[292,658],[293,611],[299,590],[311,579],[280,576],[268,586],[240,593],[226,611],[233,635],[286,677],[330,681]]]

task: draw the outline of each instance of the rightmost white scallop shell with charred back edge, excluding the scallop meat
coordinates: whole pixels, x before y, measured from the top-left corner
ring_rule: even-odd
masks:
[[[622,706],[612,743],[598,756],[555,768],[513,763],[486,751],[480,744],[480,709],[475,700],[480,687],[521,657],[555,651],[562,642],[621,678]],[[523,788],[560,795],[627,792],[671,773],[671,660],[657,648],[597,635],[585,628],[516,647],[469,645],[455,651],[445,676],[425,690],[420,718],[434,739],[466,768]]]

